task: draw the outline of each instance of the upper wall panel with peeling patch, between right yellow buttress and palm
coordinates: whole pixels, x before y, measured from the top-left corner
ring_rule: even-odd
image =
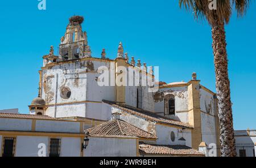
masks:
[[[213,95],[204,89],[200,89],[200,107],[201,111],[215,115],[215,102]]]

